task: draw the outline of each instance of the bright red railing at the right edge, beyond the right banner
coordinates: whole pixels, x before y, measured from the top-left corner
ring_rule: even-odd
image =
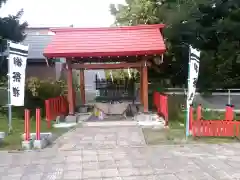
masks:
[[[194,120],[194,109],[189,111],[190,130],[193,136],[235,137],[239,136],[240,121],[234,121],[233,106],[226,106],[224,120],[204,120],[201,105],[197,108],[197,119]]]

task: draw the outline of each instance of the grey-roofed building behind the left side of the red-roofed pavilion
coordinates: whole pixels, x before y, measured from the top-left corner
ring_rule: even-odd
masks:
[[[29,55],[26,68],[26,78],[38,77],[40,79],[59,79],[61,74],[64,75],[61,63],[48,64],[47,59],[43,56],[44,48],[51,42],[54,33],[50,31],[51,27],[31,27],[26,29],[26,38],[24,45],[29,45]],[[76,78],[78,72],[75,71]],[[104,70],[87,70],[85,71],[86,90],[94,90],[95,75],[105,78]],[[79,78],[78,78],[79,79]],[[79,81],[78,81],[79,83]]]

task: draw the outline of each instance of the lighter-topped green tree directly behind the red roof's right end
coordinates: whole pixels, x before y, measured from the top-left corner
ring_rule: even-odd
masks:
[[[176,25],[188,18],[191,7],[195,6],[193,1],[128,0],[126,3],[110,6],[117,25],[166,24],[164,37],[168,50],[159,72],[150,69],[150,78],[170,79],[172,85],[184,84],[187,79],[188,48],[180,41]]]

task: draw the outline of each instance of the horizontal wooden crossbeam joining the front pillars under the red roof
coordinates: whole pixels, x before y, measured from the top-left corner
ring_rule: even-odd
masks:
[[[150,63],[148,63],[147,65],[150,65]],[[141,66],[141,62],[118,64],[72,64],[73,69],[126,69],[139,68]]]

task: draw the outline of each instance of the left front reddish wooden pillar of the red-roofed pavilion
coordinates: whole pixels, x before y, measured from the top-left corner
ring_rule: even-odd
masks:
[[[68,103],[69,103],[69,114],[74,114],[74,95],[73,95],[73,78],[72,78],[72,67],[71,60],[67,60],[67,85],[68,85]]]

